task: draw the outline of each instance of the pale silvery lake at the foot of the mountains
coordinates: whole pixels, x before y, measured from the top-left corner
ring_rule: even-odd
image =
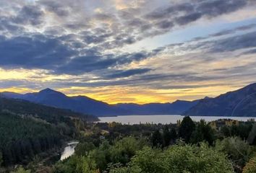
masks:
[[[126,115],[117,117],[99,117],[101,123],[122,123],[122,124],[144,124],[144,123],[177,123],[177,120],[182,120],[184,116],[182,115]],[[218,119],[232,119],[239,121],[247,121],[253,117],[203,117],[203,116],[192,116],[192,120],[200,121],[204,119],[206,122],[218,120]]]

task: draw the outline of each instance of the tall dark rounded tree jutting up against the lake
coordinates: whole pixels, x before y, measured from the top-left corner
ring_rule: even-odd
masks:
[[[186,143],[189,142],[192,132],[195,129],[195,123],[189,116],[183,118],[179,126],[179,137],[183,138]]]

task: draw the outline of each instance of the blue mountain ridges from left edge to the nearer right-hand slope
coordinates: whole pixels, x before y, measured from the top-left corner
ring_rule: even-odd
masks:
[[[67,97],[67,95],[57,92],[53,89],[43,89],[40,92],[17,94],[11,92],[2,92],[2,97],[25,99],[41,105],[69,109],[74,112],[85,113],[96,116],[114,116],[114,115],[175,115],[181,114],[190,107],[196,105],[198,100],[189,102],[177,100],[173,103],[150,103],[145,105],[138,104],[117,104],[109,105],[90,97],[76,96]]]

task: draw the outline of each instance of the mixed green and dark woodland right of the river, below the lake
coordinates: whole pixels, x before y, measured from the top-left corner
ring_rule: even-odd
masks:
[[[52,173],[157,173],[256,171],[254,120],[176,124],[85,123],[74,155],[46,165]],[[15,171],[14,171],[15,172]],[[18,167],[16,172],[36,172]]]

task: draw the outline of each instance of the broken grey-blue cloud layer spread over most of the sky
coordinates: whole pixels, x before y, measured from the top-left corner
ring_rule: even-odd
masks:
[[[0,0],[0,67],[43,69],[51,80],[42,81],[50,86],[117,85],[143,89],[186,85],[193,88],[195,82],[209,82],[210,86],[214,80],[233,81],[235,76],[245,79],[246,75],[255,74],[248,65],[255,61],[251,57],[256,47],[255,24],[206,37],[202,33],[197,39],[151,50],[128,48],[136,47],[135,43],[144,47],[148,40],[157,45],[157,35],[186,30],[192,22],[211,22],[223,14],[253,8],[255,1],[115,2]],[[182,35],[182,39],[186,37]],[[164,35],[161,39],[163,43],[172,42],[175,37]],[[141,40],[145,42],[140,43]],[[242,59],[245,54],[249,57],[247,61]],[[234,60],[243,63],[242,67],[235,68]],[[229,67],[229,63],[234,66]],[[59,79],[61,75],[65,78]],[[30,82],[35,80],[32,76],[28,78]],[[7,83],[23,86],[26,82]],[[36,82],[39,84],[40,79]]]

